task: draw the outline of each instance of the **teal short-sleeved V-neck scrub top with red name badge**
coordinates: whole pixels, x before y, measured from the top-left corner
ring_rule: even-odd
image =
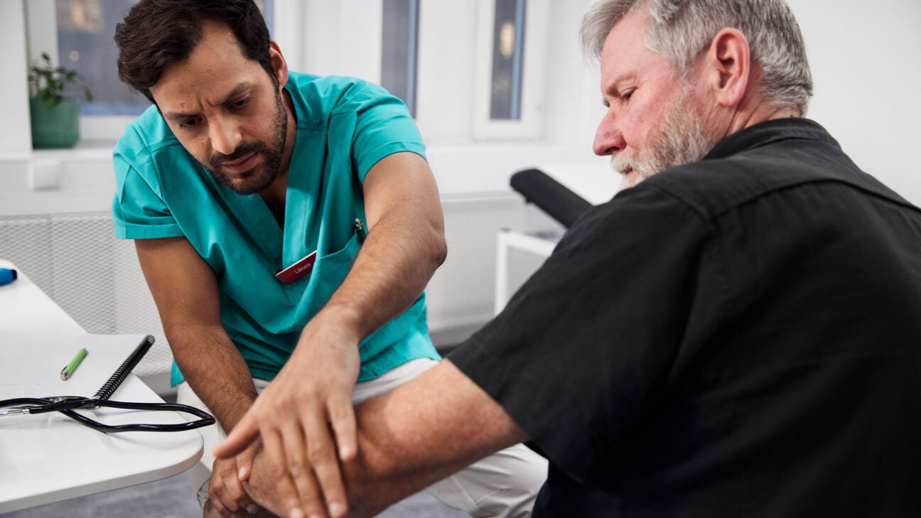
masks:
[[[402,101],[355,78],[289,73],[297,117],[288,170],[285,228],[259,194],[236,194],[212,179],[151,106],[114,150],[112,204],[120,239],[184,236],[214,269],[221,319],[253,377],[272,380],[304,326],[342,284],[361,248],[361,184],[392,153],[425,147]],[[292,284],[274,273],[317,251],[313,270]],[[438,359],[428,336],[425,294],[365,338],[357,381],[411,359]],[[172,382],[182,381],[173,364]]]

